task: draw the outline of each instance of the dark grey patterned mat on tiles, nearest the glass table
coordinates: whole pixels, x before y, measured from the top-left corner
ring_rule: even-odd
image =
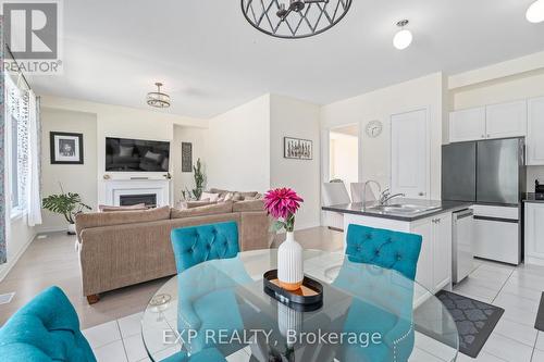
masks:
[[[459,351],[468,357],[477,358],[505,310],[446,290],[438,291],[436,298],[454,317],[459,333]],[[416,315],[417,313],[416,310]],[[434,337],[433,333],[425,330],[424,326],[416,328],[429,337]]]

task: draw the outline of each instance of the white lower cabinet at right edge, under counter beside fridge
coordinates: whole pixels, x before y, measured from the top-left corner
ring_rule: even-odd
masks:
[[[526,202],[526,264],[544,265],[544,203]]]

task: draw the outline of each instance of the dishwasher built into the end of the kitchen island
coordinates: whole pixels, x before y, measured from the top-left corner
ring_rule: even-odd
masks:
[[[465,279],[472,271],[474,258],[472,241],[474,238],[474,212],[470,209],[453,214],[453,283]]]

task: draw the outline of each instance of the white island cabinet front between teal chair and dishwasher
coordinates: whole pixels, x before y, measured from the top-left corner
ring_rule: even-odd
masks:
[[[452,284],[452,213],[417,221],[411,233],[421,235],[416,280],[432,292]]]

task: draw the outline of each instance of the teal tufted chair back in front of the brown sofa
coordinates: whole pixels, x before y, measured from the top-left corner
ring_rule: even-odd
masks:
[[[238,226],[235,222],[183,227],[172,230],[177,273],[208,260],[238,254]]]

